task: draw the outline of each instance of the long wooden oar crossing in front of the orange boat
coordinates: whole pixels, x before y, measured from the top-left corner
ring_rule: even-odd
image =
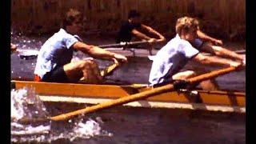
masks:
[[[235,67],[228,67],[222,70],[214,70],[210,73],[207,74],[202,74],[199,76],[196,76],[194,78],[189,78],[187,80],[188,84],[194,84],[194,83],[198,83],[198,82],[202,82],[206,79],[210,79],[210,78],[215,78],[218,77],[219,75],[222,74],[227,74],[230,73],[234,70],[237,70]],[[74,116],[78,115],[78,114],[89,114],[92,112],[95,112],[97,110],[103,110],[106,108],[110,108],[113,106],[118,106],[118,105],[122,105],[128,102],[134,102],[134,101],[138,101],[141,99],[145,99],[145,98],[149,98],[150,96],[154,96],[155,94],[161,94],[167,91],[171,91],[171,90],[175,90],[174,89],[174,85],[173,84],[167,84],[165,86],[160,86],[157,88],[152,88],[151,90],[146,90],[143,91],[141,93],[138,94],[132,94],[130,96],[127,97],[122,97],[122,98],[118,98],[118,99],[114,99],[112,101],[109,102],[102,102],[98,105],[94,105],[94,106],[89,106],[86,107],[84,109],[81,110],[75,110],[73,112],[69,112],[66,114],[60,114],[54,117],[48,117],[48,118],[22,118],[19,120],[19,122],[21,123],[30,123],[30,122],[47,122],[47,121],[63,121],[66,120],[68,118],[73,118]]]

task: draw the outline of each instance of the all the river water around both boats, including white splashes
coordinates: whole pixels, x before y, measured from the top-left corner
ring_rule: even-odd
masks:
[[[21,49],[39,50],[49,36],[25,37],[22,34],[12,36],[12,42]],[[110,44],[114,39],[86,39],[91,44]],[[87,41],[88,40],[88,41]],[[74,58],[85,58],[81,53],[75,53]],[[129,58],[129,62],[110,75],[108,82],[116,83],[147,83],[150,60],[147,58]],[[11,78],[34,78],[36,59],[24,60],[18,54],[11,55]],[[97,61],[100,68],[111,62]],[[193,65],[193,64],[192,64]],[[196,65],[194,65],[196,66]],[[208,70],[218,67],[206,67]],[[245,90],[246,71],[242,70],[217,78],[222,89]],[[23,96],[33,96],[33,90],[12,91],[12,98],[17,98],[18,106],[24,106]],[[20,95],[19,95],[20,94]],[[38,102],[36,97],[31,102]],[[30,101],[28,101],[30,102]],[[84,104],[38,102],[39,110],[45,114],[36,113],[35,109],[29,114],[17,109],[12,118],[13,143],[245,143],[246,117],[245,114],[218,113],[201,110],[178,109],[146,109],[116,106],[97,113],[80,115],[78,118],[64,122],[35,123],[34,125],[19,125],[17,120],[23,115],[27,117],[45,117],[66,113],[84,108]],[[12,106],[14,103],[12,103]],[[29,107],[31,105],[27,105]],[[41,106],[41,108],[40,108]],[[35,106],[37,107],[37,106]],[[46,110],[42,108],[45,107]],[[16,113],[16,114],[15,114]],[[22,114],[20,116],[19,114]],[[42,114],[42,115],[38,115]],[[15,123],[16,122],[16,123]],[[27,133],[27,134],[26,134]],[[19,135],[17,135],[19,134]]]

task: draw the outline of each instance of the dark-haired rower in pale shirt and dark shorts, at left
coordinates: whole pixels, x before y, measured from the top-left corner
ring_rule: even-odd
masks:
[[[63,27],[42,45],[34,70],[35,81],[78,82],[82,79],[86,83],[100,83],[102,75],[94,58],[127,62],[121,54],[81,42],[81,38],[74,34],[82,31],[82,18],[81,12],[70,9],[62,22]],[[71,62],[76,50],[93,58]]]

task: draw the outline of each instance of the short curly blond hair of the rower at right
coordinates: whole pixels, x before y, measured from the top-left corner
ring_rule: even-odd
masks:
[[[182,17],[178,18],[175,26],[177,34],[181,34],[182,30],[188,31],[190,29],[199,29],[199,22],[195,18]]]

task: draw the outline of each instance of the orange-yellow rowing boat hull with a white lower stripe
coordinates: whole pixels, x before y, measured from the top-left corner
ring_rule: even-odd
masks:
[[[77,102],[98,104],[115,98],[137,94],[152,87],[142,84],[91,85],[55,82],[12,81],[14,89],[34,87],[43,102]],[[178,90],[155,95],[124,106],[179,108],[246,113],[246,94],[234,91]]]

